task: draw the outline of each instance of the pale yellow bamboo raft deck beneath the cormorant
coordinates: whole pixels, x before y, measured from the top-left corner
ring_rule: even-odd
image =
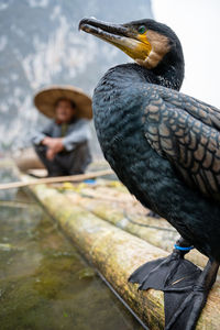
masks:
[[[147,217],[118,182],[37,185],[31,190],[142,321],[151,330],[163,329],[163,293],[138,292],[128,277],[146,261],[167,255],[177,232],[165,220]],[[196,251],[189,258],[200,266],[207,261]],[[219,329],[219,307],[220,285],[216,283],[197,330]]]

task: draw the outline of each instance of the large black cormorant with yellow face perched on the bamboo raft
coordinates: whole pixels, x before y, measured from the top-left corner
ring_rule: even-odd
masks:
[[[131,194],[182,237],[130,282],[164,290],[166,330],[195,329],[220,263],[220,110],[178,91],[184,55],[168,26],[84,19],[79,29],[135,61],[109,69],[96,87],[97,135]],[[193,246],[209,257],[202,272],[184,258]]]

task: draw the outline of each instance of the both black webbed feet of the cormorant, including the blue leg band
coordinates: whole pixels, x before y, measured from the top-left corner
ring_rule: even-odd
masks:
[[[201,272],[184,258],[190,249],[180,239],[170,255],[142,265],[129,278],[139,289],[164,292],[165,330],[194,330],[216,282],[219,264],[209,261]]]

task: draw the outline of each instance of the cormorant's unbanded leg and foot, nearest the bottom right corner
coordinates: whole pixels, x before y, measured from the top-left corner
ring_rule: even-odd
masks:
[[[165,292],[165,330],[194,330],[206,305],[209,292],[216,282],[219,263],[208,261],[207,266],[188,292],[178,284]],[[186,290],[187,294],[183,294]],[[174,307],[176,310],[174,310]]]

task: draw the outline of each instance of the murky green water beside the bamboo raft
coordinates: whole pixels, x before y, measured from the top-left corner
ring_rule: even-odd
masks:
[[[142,329],[30,196],[0,199],[0,330]]]

